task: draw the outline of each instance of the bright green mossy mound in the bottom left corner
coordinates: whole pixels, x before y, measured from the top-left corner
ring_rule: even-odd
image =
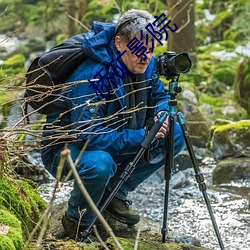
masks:
[[[7,210],[0,209],[0,249],[19,250],[23,244],[20,221]]]

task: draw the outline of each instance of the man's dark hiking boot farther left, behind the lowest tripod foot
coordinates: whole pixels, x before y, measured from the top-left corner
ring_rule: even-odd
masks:
[[[97,241],[97,238],[92,234],[90,234],[85,239],[82,234],[86,229],[86,227],[80,226],[78,225],[78,223],[75,223],[75,221],[73,221],[71,218],[68,217],[67,213],[65,213],[64,216],[62,217],[62,224],[66,232],[65,236],[68,236],[70,239],[85,243],[91,243]]]

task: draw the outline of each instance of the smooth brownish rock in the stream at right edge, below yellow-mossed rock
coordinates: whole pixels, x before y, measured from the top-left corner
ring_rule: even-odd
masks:
[[[250,158],[227,158],[219,162],[213,171],[213,183],[228,183],[238,179],[250,179]]]

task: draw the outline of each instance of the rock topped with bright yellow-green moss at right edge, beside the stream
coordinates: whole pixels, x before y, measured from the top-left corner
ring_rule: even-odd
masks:
[[[217,160],[240,155],[250,157],[250,120],[213,126],[209,147]]]

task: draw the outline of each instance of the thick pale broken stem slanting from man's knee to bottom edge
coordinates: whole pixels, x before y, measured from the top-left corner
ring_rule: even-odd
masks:
[[[109,226],[109,224],[106,222],[106,220],[104,219],[104,217],[102,216],[102,214],[100,213],[100,211],[98,210],[98,208],[96,207],[95,203],[93,202],[92,198],[90,197],[88,191],[86,190],[85,186],[83,185],[83,182],[79,176],[79,174],[77,173],[77,170],[75,168],[74,162],[71,158],[71,154],[70,154],[70,150],[69,149],[64,149],[61,152],[61,157],[62,158],[66,158],[68,160],[69,166],[72,169],[73,172],[73,176],[75,178],[75,181],[80,189],[80,191],[82,192],[84,198],[86,199],[86,201],[88,202],[90,208],[95,212],[95,214],[97,215],[98,219],[100,220],[100,222],[102,223],[102,225],[104,226],[105,230],[108,232],[108,234],[113,238],[115,245],[118,247],[119,250],[124,250],[123,247],[121,246],[121,244],[119,243],[119,241],[117,240],[116,236],[114,235],[111,227]]]

